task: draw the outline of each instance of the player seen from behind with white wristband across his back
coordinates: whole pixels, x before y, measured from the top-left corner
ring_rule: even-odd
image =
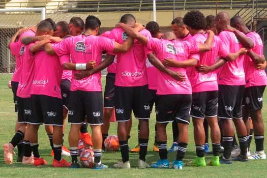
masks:
[[[85,115],[92,129],[94,168],[107,168],[101,163],[101,125],[103,124],[101,70],[110,65],[114,58],[108,55],[106,60],[101,63],[102,52],[126,52],[133,42],[129,38],[123,45],[120,45],[105,37],[96,36],[100,25],[101,22],[97,17],[89,15],[85,21],[84,34],[66,38],[60,44],[51,46],[48,43],[45,46],[45,50],[50,54],[56,52],[58,56],[70,55],[72,58],[72,62],[66,60],[62,62],[62,65],[64,69],[73,70],[69,100],[69,123],[71,123],[69,143],[72,157],[71,167],[73,168],[79,167],[77,145],[80,127],[84,123]],[[96,61],[92,61],[93,59]],[[97,67],[92,69],[95,65]],[[79,70],[86,69],[92,70],[79,72]]]

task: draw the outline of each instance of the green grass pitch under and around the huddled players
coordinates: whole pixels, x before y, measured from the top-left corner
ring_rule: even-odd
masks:
[[[14,128],[16,122],[16,114],[14,113],[14,104],[12,98],[12,91],[8,88],[7,83],[11,75],[2,75],[0,77],[0,144],[11,140],[14,135]],[[105,83],[103,77],[103,84]],[[264,99],[267,97],[265,93]],[[267,105],[264,103],[263,118],[267,117]],[[152,151],[154,142],[154,125],[155,125],[155,111],[151,115],[150,120],[150,142],[147,153],[147,163],[156,162],[159,158],[158,153]],[[267,125],[267,120],[264,120]],[[265,129],[265,131],[267,131]],[[69,125],[66,128],[65,145],[68,146],[67,136],[69,132]],[[168,147],[172,143],[171,125],[167,127],[168,132]],[[130,147],[134,147],[137,143],[137,120],[133,120],[133,127],[131,132],[131,139],[129,140]],[[116,123],[111,123],[109,134],[116,134]],[[267,147],[266,141],[264,147]],[[137,160],[138,154],[130,154],[130,162],[132,169],[119,170],[112,168],[112,165],[121,159],[120,152],[107,152],[103,154],[102,162],[107,164],[110,168],[106,170],[92,170],[86,168],[70,169],[70,168],[53,168],[52,157],[50,156],[50,145],[48,137],[45,133],[44,127],[39,129],[39,151],[43,158],[48,161],[48,165],[42,167],[34,167],[30,165],[22,165],[21,163],[13,163],[13,165],[4,164],[3,149],[0,149],[0,177],[266,177],[267,171],[265,170],[267,160],[249,161],[247,163],[234,162],[232,165],[221,165],[220,167],[187,167],[184,166],[183,170],[174,169],[138,169]],[[211,149],[211,148],[210,148]],[[251,144],[251,151],[255,150],[254,139]],[[15,150],[16,152],[16,150]],[[172,161],[176,154],[168,154],[168,158]],[[192,160],[195,156],[195,146],[193,139],[193,125],[190,124],[189,129],[189,144],[186,152],[185,162]],[[206,162],[209,162],[210,156],[206,156]],[[14,157],[16,160],[16,156]],[[67,158],[70,161],[70,157]]]

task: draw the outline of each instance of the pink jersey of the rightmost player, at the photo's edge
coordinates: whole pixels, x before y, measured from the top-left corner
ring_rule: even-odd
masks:
[[[255,32],[250,32],[246,36],[253,41],[252,51],[262,56],[263,43],[260,36]],[[255,63],[252,59],[246,55],[244,60],[246,87],[266,85],[267,78],[265,70],[257,70],[254,65]]]

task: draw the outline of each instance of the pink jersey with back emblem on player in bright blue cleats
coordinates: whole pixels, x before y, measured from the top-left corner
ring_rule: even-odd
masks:
[[[151,38],[147,42],[147,48],[155,52],[159,60],[164,58],[173,58],[177,61],[188,60],[191,53],[199,51],[198,45],[190,42],[168,41]],[[186,75],[185,68],[173,68],[172,71],[180,72],[186,76],[186,80],[181,82],[173,79],[164,72],[157,72],[157,95],[171,95],[171,94],[192,94],[191,84]]]

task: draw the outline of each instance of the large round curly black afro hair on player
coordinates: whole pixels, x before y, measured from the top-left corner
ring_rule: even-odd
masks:
[[[190,11],[184,17],[184,23],[193,29],[205,29],[206,18],[200,11]]]

